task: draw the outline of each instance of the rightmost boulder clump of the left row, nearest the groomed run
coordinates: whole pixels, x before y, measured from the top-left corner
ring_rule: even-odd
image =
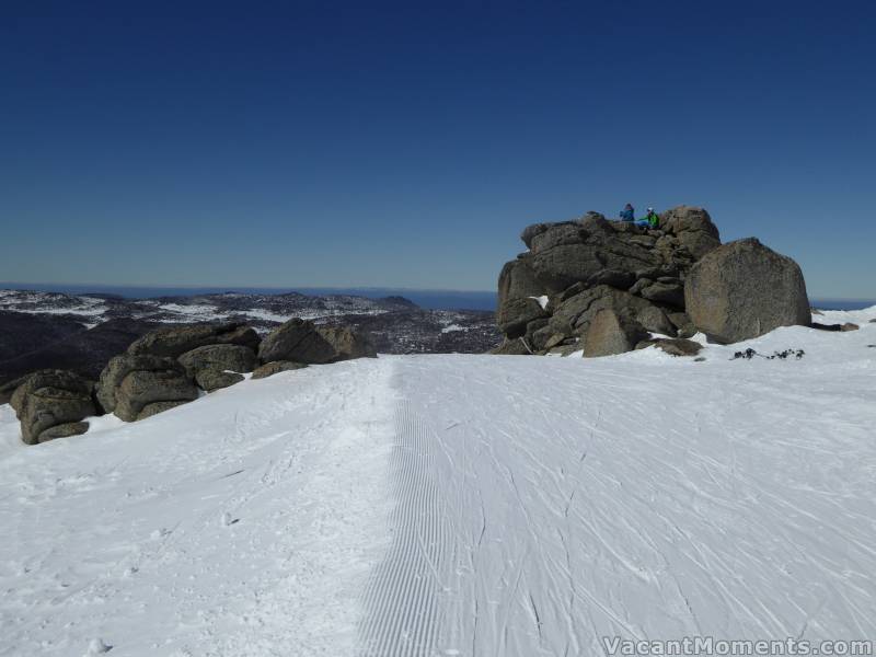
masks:
[[[258,348],[263,362],[291,360],[319,365],[376,356],[368,341],[350,328],[316,326],[299,319],[272,331]]]

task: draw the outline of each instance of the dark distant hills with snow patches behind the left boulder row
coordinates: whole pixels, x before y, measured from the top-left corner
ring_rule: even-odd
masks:
[[[367,331],[383,354],[484,353],[500,337],[493,312],[425,310],[402,297],[227,292],[135,300],[0,290],[0,384],[46,367],[96,378],[108,358],[166,324],[239,321],[267,333],[291,318]]]

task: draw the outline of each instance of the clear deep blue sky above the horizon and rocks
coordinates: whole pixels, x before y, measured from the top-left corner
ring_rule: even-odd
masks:
[[[493,289],[629,200],[876,298],[875,116],[872,2],[3,2],[0,280]]]

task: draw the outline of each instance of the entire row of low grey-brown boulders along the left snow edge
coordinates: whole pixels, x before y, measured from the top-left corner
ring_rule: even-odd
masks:
[[[88,417],[114,413],[125,422],[233,385],[312,364],[376,357],[349,328],[290,320],[262,341],[240,323],[173,326],[148,333],[115,356],[97,383],[68,370],[41,370],[3,388],[27,445],[84,434]],[[14,388],[13,388],[14,387]],[[9,390],[7,390],[9,389]]]

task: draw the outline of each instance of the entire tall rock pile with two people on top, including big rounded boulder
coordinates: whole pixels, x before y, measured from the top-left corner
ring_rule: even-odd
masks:
[[[810,322],[796,263],[757,240],[722,245],[703,208],[668,210],[656,229],[587,212],[520,239],[529,250],[499,274],[497,354],[692,355],[689,341],[655,334],[726,343]]]

